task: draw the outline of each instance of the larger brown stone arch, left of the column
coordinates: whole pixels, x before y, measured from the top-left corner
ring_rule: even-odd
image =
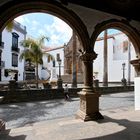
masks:
[[[82,20],[71,10],[67,9],[57,1],[28,0],[9,1],[0,8],[0,31],[14,18],[33,12],[49,13],[65,21],[79,36],[83,51],[91,50],[88,31]]]

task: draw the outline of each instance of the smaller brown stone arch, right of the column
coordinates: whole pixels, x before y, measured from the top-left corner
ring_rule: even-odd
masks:
[[[97,24],[91,36],[91,46],[93,47],[93,49],[98,35],[108,28],[118,29],[124,32],[133,43],[136,55],[140,57],[140,34],[134,27],[130,25],[127,20],[111,19]]]

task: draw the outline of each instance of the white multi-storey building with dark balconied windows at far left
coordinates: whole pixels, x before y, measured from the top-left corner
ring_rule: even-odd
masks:
[[[20,52],[24,49],[20,41],[26,39],[26,27],[14,21],[13,29],[1,33],[1,81],[24,79],[24,60],[19,61]],[[6,57],[5,57],[6,56]]]

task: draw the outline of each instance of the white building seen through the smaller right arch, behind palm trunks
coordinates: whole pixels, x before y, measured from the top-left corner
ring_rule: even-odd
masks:
[[[135,71],[130,64],[130,60],[136,58],[136,53],[133,44],[124,33],[117,33],[108,36],[108,82],[121,82],[123,78],[122,64],[125,63],[125,79],[127,81],[134,81]],[[98,38],[95,43],[95,52],[98,54],[93,63],[93,74],[97,74],[100,82],[103,82],[104,74],[104,39]]]

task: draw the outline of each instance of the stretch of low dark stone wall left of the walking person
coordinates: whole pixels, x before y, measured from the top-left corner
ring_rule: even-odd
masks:
[[[64,98],[64,92],[63,89],[9,90],[1,91],[0,96],[3,96],[1,103],[12,103]]]

